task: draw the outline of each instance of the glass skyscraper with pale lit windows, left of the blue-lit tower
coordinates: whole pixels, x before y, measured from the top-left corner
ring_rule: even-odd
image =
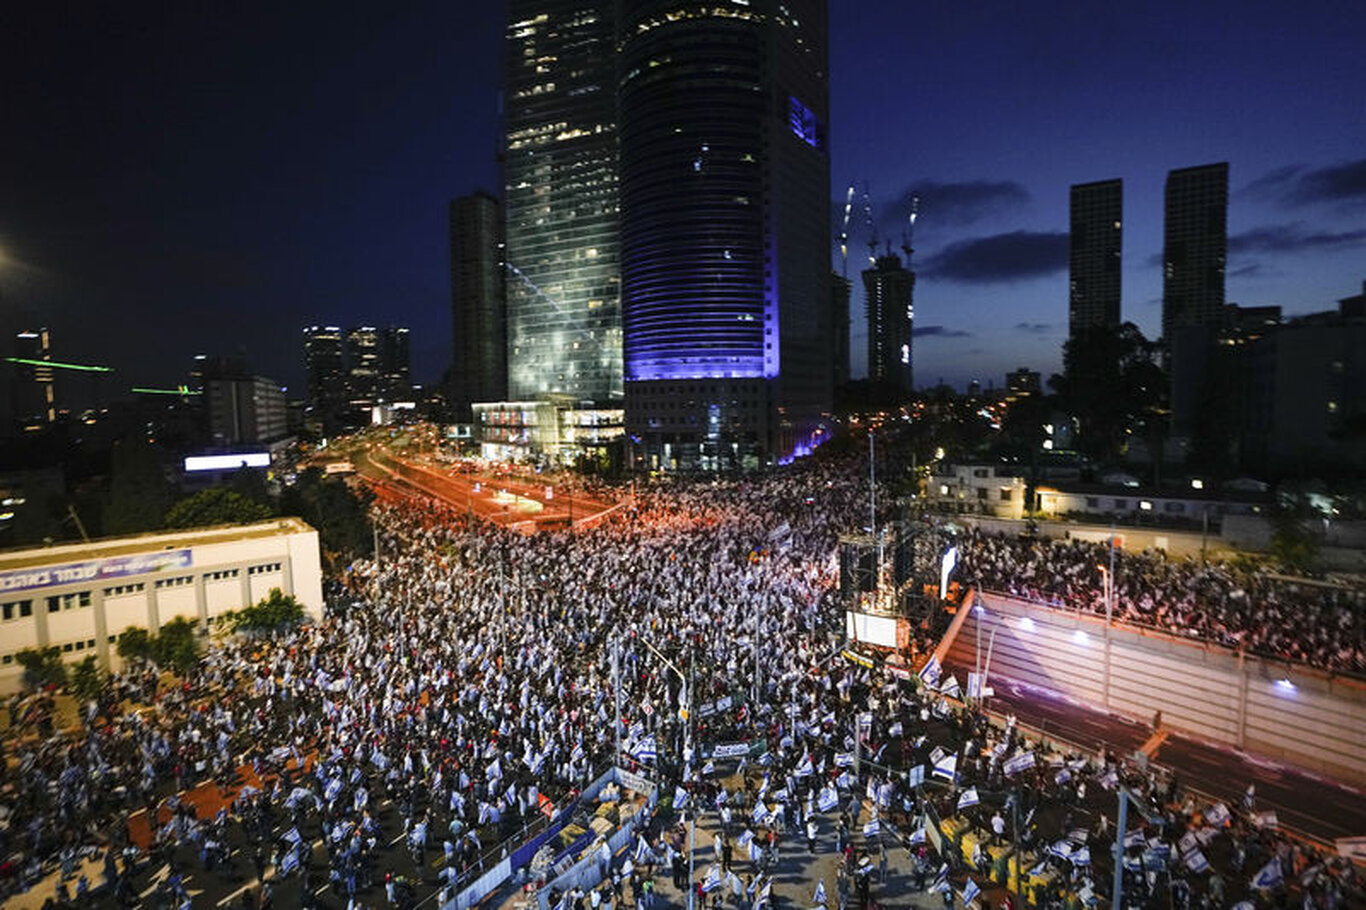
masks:
[[[622,396],[611,0],[511,0],[508,395]]]

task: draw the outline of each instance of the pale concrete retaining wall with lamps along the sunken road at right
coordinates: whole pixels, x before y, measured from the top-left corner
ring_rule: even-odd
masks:
[[[990,676],[1023,682],[1087,705],[1199,739],[1243,749],[1366,784],[1366,683],[1306,665],[1102,618],[984,594],[949,650],[949,663],[982,660],[992,634]]]

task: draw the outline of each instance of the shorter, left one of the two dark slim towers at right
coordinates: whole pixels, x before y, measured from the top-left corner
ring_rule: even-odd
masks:
[[[1067,335],[1076,339],[1089,329],[1119,328],[1124,183],[1074,184],[1071,216]]]

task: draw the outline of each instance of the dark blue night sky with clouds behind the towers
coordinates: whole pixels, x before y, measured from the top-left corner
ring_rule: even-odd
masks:
[[[245,354],[294,398],[302,327],[399,324],[440,377],[447,201],[497,189],[503,4],[45,5],[0,46],[5,347],[49,325],[59,359],[117,368],[107,399]],[[858,180],[896,249],[922,197],[918,385],[1060,368],[1072,183],[1123,178],[1123,314],[1149,336],[1171,168],[1229,161],[1229,302],[1361,291],[1359,3],[831,7],[832,230]]]

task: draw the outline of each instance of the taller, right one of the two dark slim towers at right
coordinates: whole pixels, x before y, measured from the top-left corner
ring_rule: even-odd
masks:
[[[1208,327],[1224,312],[1228,258],[1228,163],[1167,175],[1162,242],[1162,339],[1183,327]]]

